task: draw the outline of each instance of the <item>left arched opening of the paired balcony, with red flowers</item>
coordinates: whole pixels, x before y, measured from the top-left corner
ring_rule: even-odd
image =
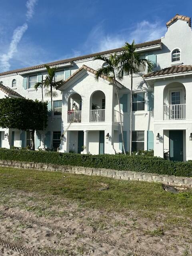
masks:
[[[72,94],[68,99],[68,123],[81,122],[82,98],[78,93]]]

